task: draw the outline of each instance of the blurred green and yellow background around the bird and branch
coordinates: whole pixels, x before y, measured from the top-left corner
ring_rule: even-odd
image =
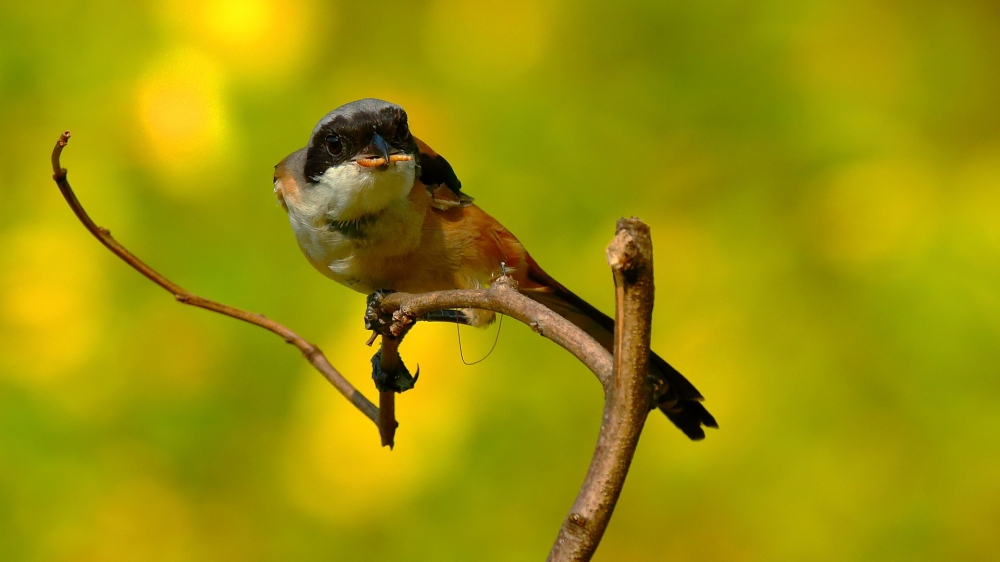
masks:
[[[368,96],[606,311],[615,220],[652,227],[654,347],[722,429],[650,419],[597,560],[1000,558],[995,2],[106,0],[0,8],[0,559],[543,559],[601,414],[567,353],[417,329],[390,452],[50,179],[71,129],[99,224],[372,396],[270,181]]]

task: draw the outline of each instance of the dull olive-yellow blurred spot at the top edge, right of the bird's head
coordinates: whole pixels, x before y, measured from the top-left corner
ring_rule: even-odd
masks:
[[[431,64],[461,81],[503,82],[542,63],[552,34],[540,2],[439,0],[423,34]]]

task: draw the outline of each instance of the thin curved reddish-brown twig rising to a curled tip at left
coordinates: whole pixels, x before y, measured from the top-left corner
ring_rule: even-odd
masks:
[[[323,352],[320,351],[318,347],[309,343],[285,326],[282,326],[281,324],[278,324],[274,320],[270,320],[263,315],[254,314],[252,312],[247,312],[245,310],[217,303],[185,291],[180,285],[167,279],[152,267],[146,265],[145,262],[137,258],[131,252],[126,250],[124,246],[119,244],[118,241],[111,236],[111,232],[108,231],[108,229],[97,226],[94,221],[91,220],[87,211],[83,209],[83,205],[81,205],[80,201],[76,198],[76,194],[73,193],[73,189],[69,186],[69,180],[66,179],[66,169],[59,163],[63,147],[65,147],[66,143],[69,142],[69,137],[69,131],[63,133],[62,136],[59,137],[59,141],[56,143],[55,148],[52,150],[52,179],[55,180],[56,184],[59,186],[59,191],[61,191],[63,197],[66,198],[66,202],[69,203],[69,207],[73,209],[76,217],[80,219],[83,226],[85,226],[87,230],[101,242],[101,244],[104,244],[109,250],[111,250],[112,253],[124,260],[125,263],[132,266],[136,271],[146,276],[150,281],[173,294],[174,298],[177,299],[178,302],[218,312],[219,314],[224,314],[238,320],[243,320],[244,322],[249,322],[255,326],[260,326],[265,330],[270,330],[275,334],[278,334],[286,342],[297,347],[299,351],[302,352],[302,355],[309,360],[309,363],[312,364],[312,366],[315,367],[316,370],[326,378],[326,380],[330,381],[330,384],[343,394],[345,398],[350,400],[351,404],[354,404],[354,406],[360,410],[361,413],[376,424],[378,423],[378,408],[376,408],[374,404],[372,404],[367,398],[364,397],[363,394],[354,388],[354,386],[352,386],[351,383],[349,383],[347,379],[345,379],[343,375],[341,375],[337,369],[330,364],[326,356],[323,355]]]

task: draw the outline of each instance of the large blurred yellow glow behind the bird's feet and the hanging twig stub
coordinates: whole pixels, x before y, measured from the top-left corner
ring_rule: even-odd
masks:
[[[361,314],[349,314],[352,322],[324,351],[374,397],[373,350],[364,346],[366,332],[353,322]],[[401,348],[411,371],[419,364],[422,374],[415,389],[397,395],[400,428],[393,451],[380,446],[368,418],[319,374],[308,373],[286,456],[290,499],[299,509],[335,524],[362,524],[405,503],[448,470],[468,426],[471,388],[467,376],[456,374],[454,332],[433,328],[413,330]]]

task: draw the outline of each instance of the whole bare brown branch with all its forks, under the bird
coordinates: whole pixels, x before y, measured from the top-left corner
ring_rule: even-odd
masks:
[[[652,242],[649,227],[638,219],[618,221],[615,238],[607,248],[608,265],[615,281],[614,354],[608,353],[593,338],[545,306],[522,295],[517,283],[506,275],[498,277],[488,289],[438,291],[423,294],[388,293],[369,302],[366,326],[373,330],[371,345],[381,336],[379,352],[373,358],[373,371],[392,383],[377,385],[379,407],[348,382],[316,345],[287,327],[255,314],[211,301],[190,293],[170,281],[97,226],[76,198],[60,165],[63,148],[70,133],[63,133],[52,151],[52,179],[66,203],[84,227],[101,244],[125,263],[170,292],[177,302],[211,310],[269,330],[294,345],[307,361],[322,374],[355,408],[379,428],[383,446],[390,448],[398,423],[395,419],[395,394],[402,392],[409,372],[399,358],[399,344],[423,316],[447,309],[476,308],[504,314],[529,326],[572,353],[600,381],[605,405],[597,446],[590,468],[576,501],[566,516],[555,544],[549,553],[551,562],[590,560],[607,529],[615,504],[625,484],[635,448],[646,416],[655,406],[653,389],[647,380],[649,340],[653,309]],[[412,377],[409,387],[416,382]]]

